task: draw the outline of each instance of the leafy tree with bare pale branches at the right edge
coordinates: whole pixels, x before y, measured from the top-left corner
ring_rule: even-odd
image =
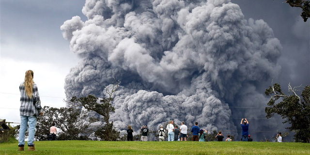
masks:
[[[301,86],[299,86],[301,87]],[[265,94],[271,96],[265,108],[266,117],[271,118],[274,114],[279,114],[284,123],[292,124],[288,127],[295,132],[294,139],[297,142],[310,142],[310,86],[306,86],[299,97],[296,89],[288,85],[289,95],[285,95],[278,83],[266,89]],[[279,100],[280,99],[280,100]],[[275,104],[277,101],[277,104]]]

